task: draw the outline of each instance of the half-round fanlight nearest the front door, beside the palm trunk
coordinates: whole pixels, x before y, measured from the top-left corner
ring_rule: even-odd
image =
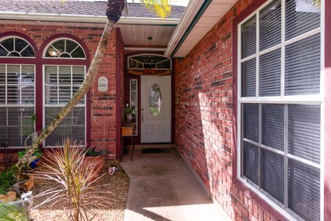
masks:
[[[85,59],[83,48],[72,39],[55,39],[43,53],[46,58]]]

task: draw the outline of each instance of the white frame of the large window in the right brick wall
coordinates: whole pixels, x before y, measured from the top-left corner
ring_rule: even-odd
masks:
[[[274,209],[276,209],[279,213],[285,216],[285,218],[288,218],[288,220],[303,220],[299,215],[294,213],[293,211],[290,211],[290,209],[284,209],[281,205],[279,205],[274,200],[271,200],[266,195],[268,193],[263,194],[263,191],[261,189],[257,189],[256,186],[252,185],[251,182],[248,182],[245,177],[241,177],[242,174],[242,140],[243,137],[241,135],[241,105],[242,104],[308,104],[308,105],[319,105],[321,106],[321,159],[320,164],[312,164],[311,166],[319,166],[320,170],[320,218],[321,220],[324,220],[324,42],[325,42],[325,0],[321,0],[321,24],[319,28],[315,28],[313,30],[310,30],[308,32],[303,33],[302,35],[299,35],[297,37],[294,37],[289,40],[285,40],[285,0],[281,0],[281,44],[277,44],[275,46],[272,46],[271,48],[267,48],[265,50],[259,51],[259,11],[265,6],[268,6],[269,3],[271,3],[274,0],[268,0],[265,3],[263,3],[262,6],[257,8],[252,14],[250,14],[248,17],[243,19],[240,23],[237,25],[237,178],[243,182],[246,186],[248,186],[254,193],[259,195],[260,198],[265,200],[265,202],[268,202]],[[254,15],[257,16],[257,49],[254,55],[250,55],[248,57],[245,57],[241,59],[241,25],[245,23],[245,21],[248,21],[251,17]],[[285,95],[285,46],[288,44],[292,44],[294,42],[297,42],[301,39],[305,39],[306,37],[310,37],[312,35],[315,35],[317,33],[321,33],[321,75],[320,75],[320,93],[319,95]],[[257,55],[264,55],[267,52],[276,50],[278,48],[281,48],[281,96],[275,96],[275,97],[258,97],[259,96],[259,68],[257,68],[256,72],[256,97],[241,97],[241,63],[243,61],[248,61],[249,59],[256,58],[257,67],[259,67],[259,57]],[[286,124],[286,122],[285,122]],[[295,160],[298,160],[297,157],[291,156],[289,154],[286,154],[289,158],[295,158]],[[301,161],[302,162],[302,161]],[[310,164],[310,162],[305,162],[305,164]],[[284,182],[287,182],[284,180]],[[284,199],[285,200],[285,199]]]

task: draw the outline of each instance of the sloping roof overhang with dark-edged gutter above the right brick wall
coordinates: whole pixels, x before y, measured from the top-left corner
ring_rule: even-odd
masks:
[[[190,0],[164,55],[185,57],[237,0]]]

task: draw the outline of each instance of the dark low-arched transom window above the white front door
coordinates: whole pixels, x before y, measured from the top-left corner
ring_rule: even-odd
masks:
[[[171,59],[162,55],[132,55],[128,57],[128,69],[171,70]]]

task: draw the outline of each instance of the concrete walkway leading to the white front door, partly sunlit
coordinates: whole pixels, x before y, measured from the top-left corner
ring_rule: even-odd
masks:
[[[223,221],[188,166],[174,148],[171,153],[123,156],[121,166],[130,177],[124,221]]]

